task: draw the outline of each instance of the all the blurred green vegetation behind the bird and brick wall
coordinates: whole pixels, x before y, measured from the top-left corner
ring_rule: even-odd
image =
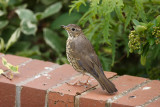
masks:
[[[159,0],[0,0],[0,52],[68,63],[66,32],[78,24],[104,70],[160,79]]]

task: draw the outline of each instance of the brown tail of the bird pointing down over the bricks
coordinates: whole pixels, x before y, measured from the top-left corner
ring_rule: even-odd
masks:
[[[118,91],[115,85],[109,79],[107,79],[105,75],[101,75],[100,78],[98,78],[97,80],[101,85],[102,89],[106,90],[109,94],[114,94]]]

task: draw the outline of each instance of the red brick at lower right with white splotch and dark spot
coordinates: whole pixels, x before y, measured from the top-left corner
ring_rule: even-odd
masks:
[[[143,105],[145,102],[158,96],[160,93],[160,81],[153,80],[152,82],[146,84],[145,86],[135,90],[126,96],[118,99],[113,103],[113,107],[117,105],[121,106],[139,106]],[[154,107],[154,106],[152,106]]]

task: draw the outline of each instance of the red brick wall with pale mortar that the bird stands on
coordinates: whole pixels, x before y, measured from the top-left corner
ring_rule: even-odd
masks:
[[[1,107],[159,107],[160,81],[129,75],[118,76],[105,72],[116,85],[118,93],[108,95],[91,78],[90,85],[70,86],[81,74],[70,65],[34,60],[0,53],[13,65],[19,65],[19,74],[9,80],[0,75]],[[86,77],[83,77],[85,80]]]

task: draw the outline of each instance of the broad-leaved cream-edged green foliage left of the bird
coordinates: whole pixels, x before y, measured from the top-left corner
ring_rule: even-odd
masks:
[[[0,1],[0,52],[67,63],[67,35],[60,25],[81,17],[75,12],[69,15],[68,5],[58,0]]]

